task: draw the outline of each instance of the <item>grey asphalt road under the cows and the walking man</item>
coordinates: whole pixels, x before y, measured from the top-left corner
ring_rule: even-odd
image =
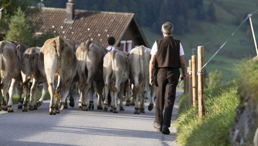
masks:
[[[172,120],[182,92],[177,91]],[[22,112],[16,104],[14,113],[0,111],[0,146],[176,145],[174,127],[169,128],[169,135],[153,128],[155,107],[148,111],[149,93],[145,113],[140,114],[134,114],[134,106],[124,106],[125,110],[118,113],[97,110],[94,95],[93,110],[79,109],[77,96],[74,108],[68,105],[60,114],[49,115],[49,101],[45,100],[38,110]]]

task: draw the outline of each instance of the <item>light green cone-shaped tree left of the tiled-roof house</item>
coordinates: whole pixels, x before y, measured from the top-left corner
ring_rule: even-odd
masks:
[[[9,30],[4,39],[6,41],[21,41],[31,45],[32,33],[30,25],[26,22],[25,14],[22,12],[21,7],[18,7],[17,13],[10,19]]]

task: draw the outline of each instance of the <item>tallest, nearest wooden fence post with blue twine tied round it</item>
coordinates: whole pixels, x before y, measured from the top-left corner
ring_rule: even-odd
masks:
[[[198,107],[199,119],[205,116],[204,109],[204,47],[198,46]],[[202,69],[201,69],[202,68]]]

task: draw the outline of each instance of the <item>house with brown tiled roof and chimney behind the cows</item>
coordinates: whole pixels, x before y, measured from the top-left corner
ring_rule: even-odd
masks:
[[[69,0],[66,9],[42,7],[34,22],[41,19],[43,24],[35,35],[53,30],[63,38],[92,40],[104,46],[108,46],[108,37],[114,36],[114,46],[127,52],[140,45],[150,47],[134,13],[75,10],[74,5]]]

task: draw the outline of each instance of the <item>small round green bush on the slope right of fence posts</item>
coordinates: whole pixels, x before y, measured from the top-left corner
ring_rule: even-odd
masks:
[[[209,73],[209,77],[205,79],[207,82],[208,88],[215,87],[216,85],[220,85],[222,81],[222,73],[218,70],[215,70],[214,72],[211,71]]]

